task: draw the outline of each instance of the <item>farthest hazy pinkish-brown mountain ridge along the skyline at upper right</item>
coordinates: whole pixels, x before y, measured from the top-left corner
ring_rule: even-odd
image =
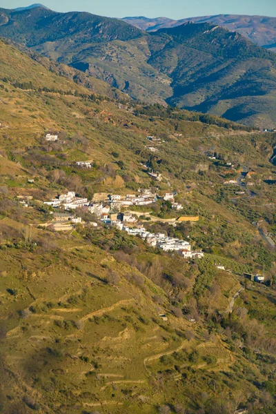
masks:
[[[173,28],[188,21],[195,23],[211,23],[235,30],[259,46],[276,51],[276,17],[246,16],[238,14],[217,14],[216,16],[191,17],[188,19],[172,20],[168,17],[124,17],[122,19],[133,26],[154,32],[163,28]]]

